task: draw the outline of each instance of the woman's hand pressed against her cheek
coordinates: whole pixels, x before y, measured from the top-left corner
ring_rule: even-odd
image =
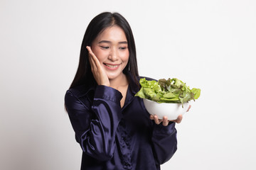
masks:
[[[98,85],[104,85],[104,86],[110,86],[110,80],[107,77],[107,74],[105,70],[102,68],[102,65],[100,64],[99,60],[95,56],[95,54],[92,52],[91,47],[86,47],[89,52],[89,61],[90,66],[92,68],[92,74],[95,78],[95,81],[97,81]]]

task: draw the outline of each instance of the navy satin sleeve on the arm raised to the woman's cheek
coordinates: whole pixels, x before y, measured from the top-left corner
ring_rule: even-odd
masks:
[[[105,161],[114,154],[115,132],[122,118],[122,94],[108,86],[97,86],[92,109],[71,91],[65,94],[65,107],[82,151]]]

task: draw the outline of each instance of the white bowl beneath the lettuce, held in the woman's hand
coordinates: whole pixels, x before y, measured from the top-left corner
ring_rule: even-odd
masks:
[[[146,111],[151,115],[157,115],[159,119],[162,119],[164,116],[168,120],[176,120],[178,115],[183,115],[188,111],[190,103],[183,103],[183,108],[181,103],[157,103],[156,101],[150,101],[146,98],[143,98]]]

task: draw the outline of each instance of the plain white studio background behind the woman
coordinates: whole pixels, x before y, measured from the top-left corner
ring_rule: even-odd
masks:
[[[103,11],[129,21],[140,75],[202,90],[162,169],[256,169],[254,0],[0,0],[0,169],[80,169],[64,95]]]

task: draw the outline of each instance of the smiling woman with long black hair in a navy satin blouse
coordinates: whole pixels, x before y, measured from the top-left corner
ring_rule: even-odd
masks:
[[[139,91],[134,38],[119,13],[100,13],[82,40],[65,107],[82,147],[81,169],[160,169],[176,152],[175,123],[150,115]],[[149,78],[147,78],[149,79]]]

